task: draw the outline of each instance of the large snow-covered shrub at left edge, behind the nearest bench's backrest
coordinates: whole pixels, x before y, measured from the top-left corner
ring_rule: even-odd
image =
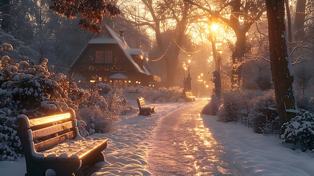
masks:
[[[26,61],[13,64],[11,58],[4,56],[0,69],[0,106],[20,113],[26,109],[27,115],[36,117],[40,110],[54,108],[42,107],[42,101],[66,102],[65,90],[69,85],[65,76],[49,72],[47,63],[48,59],[33,67]]]

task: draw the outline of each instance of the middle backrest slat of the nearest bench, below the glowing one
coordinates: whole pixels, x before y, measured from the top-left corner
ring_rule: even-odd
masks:
[[[54,126],[49,126],[49,127],[46,127],[46,128],[34,130],[33,131],[33,140],[36,140],[36,139],[39,139],[41,137],[57,133],[59,131],[63,131],[65,129],[70,129],[70,128],[73,128],[73,127],[75,127],[75,126],[73,126],[72,121],[68,121],[68,122],[57,124],[57,125],[54,125]]]

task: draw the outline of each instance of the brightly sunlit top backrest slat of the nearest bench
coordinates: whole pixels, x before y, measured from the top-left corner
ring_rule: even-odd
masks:
[[[71,118],[71,113],[50,115],[50,116],[45,116],[45,117],[33,118],[29,120],[30,120],[31,126],[37,126],[37,125],[52,123],[54,121],[68,119],[68,118]]]

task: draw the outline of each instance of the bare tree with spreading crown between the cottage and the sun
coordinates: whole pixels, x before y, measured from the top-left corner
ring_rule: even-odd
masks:
[[[127,12],[134,26],[146,26],[153,31],[156,45],[161,53],[160,57],[166,63],[166,86],[174,86],[179,53],[183,46],[188,46],[189,43],[186,32],[192,20],[193,10],[190,4],[178,1],[141,0],[141,2],[141,4],[134,2],[132,6],[140,6],[144,12],[141,13],[137,7],[130,6],[124,11]],[[191,48],[190,45],[189,49]]]

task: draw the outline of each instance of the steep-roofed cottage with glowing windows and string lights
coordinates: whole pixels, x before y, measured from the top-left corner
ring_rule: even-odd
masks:
[[[90,83],[107,83],[112,87],[152,86],[161,79],[145,68],[147,60],[147,53],[127,45],[123,30],[118,34],[105,25],[70,66],[70,72]]]

